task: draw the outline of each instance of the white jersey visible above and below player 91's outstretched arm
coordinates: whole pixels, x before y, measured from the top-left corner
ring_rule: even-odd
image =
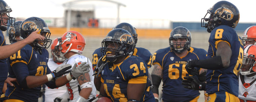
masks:
[[[53,61],[53,59],[49,59],[48,63],[47,63],[49,69],[51,71],[54,71],[57,67],[61,66],[62,64],[57,64]],[[66,85],[59,87],[59,88],[55,88],[55,89],[50,89],[49,87],[45,87],[45,101],[44,102],[53,102],[53,100],[56,97],[60,97],[61,95],[63,95],[65,92],[67,91],[67,87]]]

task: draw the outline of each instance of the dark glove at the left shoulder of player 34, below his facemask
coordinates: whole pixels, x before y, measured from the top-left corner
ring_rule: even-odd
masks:
[[[105,58],[105,59],[104,59]],[[103,59],[103,60],[102,60]],[[98,72],[98,73],[95,73],[94,75],[97,74],[97,78],[99,76],[99,74],[101,74],[102,70],[104,69],[104,67],[107,65],[107,60],[106,60],[106,57],[101,57],[98,62],[97,62],[97,66],[96,68],[94,69],[95,72]]]

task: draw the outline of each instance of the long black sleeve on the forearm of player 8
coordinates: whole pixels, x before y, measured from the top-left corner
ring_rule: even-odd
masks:
[[[189,64],[191,67],[204,68],[209,70],[223,69],[221,56],[212,57],[205,60],[192,60]]]

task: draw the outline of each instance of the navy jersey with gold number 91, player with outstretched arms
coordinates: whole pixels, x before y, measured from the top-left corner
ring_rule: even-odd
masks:
[[[50,74],[51,71],[47,66],[48,57],[49,54],[46,49],[42,49],[42,55],[40,55],[32,46],[27,44],[16,54],[8,58],[11,66],[9,69],[9,77],[16,78],[18,83],[21,85],[22,81],[27,76],[42,76]],[[26,64],[27,67],[19,67],[21,64]],[[7,86],[5,96],[10,99],[18,99],[25,102],[38,101],[41,86],[23,89],[20,85],[17,85],[17,83],[13,84],[13,87],[10,85]]]

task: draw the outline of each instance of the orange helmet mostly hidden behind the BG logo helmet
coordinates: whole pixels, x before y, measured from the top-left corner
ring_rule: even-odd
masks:
[[[51,55],[52,55],[52,59],[54,62],[56,63],[62,63],[66,60],[66,58],[63,56],[57,56],[59,54],[56,54],[57,53],[57,50],[55,50],[55,46],[59,44],[59,41],[58,41],[58,38],[55,38],[53,41],[52,41],[52,44],[51,44]],[[60,52],[59,52],[60,53]]]

